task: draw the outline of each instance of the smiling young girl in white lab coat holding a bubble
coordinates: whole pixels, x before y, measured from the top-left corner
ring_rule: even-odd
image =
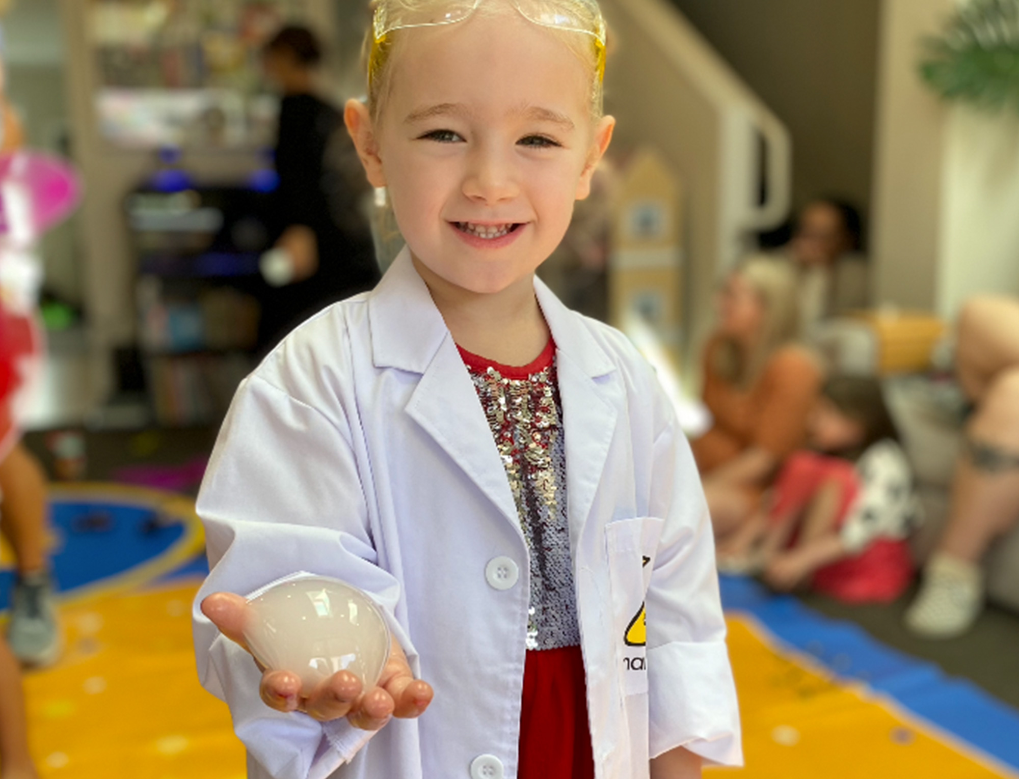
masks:
[[[604,44],[592,0],[375,9],[369,102],[345,118],[408,245],[245,382],[199,498],[199,670],[249,776],[679,779],[741,760],[675,413],[620,333],[534,278],[609,143]],[[386,610],[374,689],[340,672],[302,691],[245,652],[242,596],[302,571]]]

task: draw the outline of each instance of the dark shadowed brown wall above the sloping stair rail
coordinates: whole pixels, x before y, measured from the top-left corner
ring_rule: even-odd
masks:
[[[673,0],[793,136],[794,201],[871,194],[880,0]]]

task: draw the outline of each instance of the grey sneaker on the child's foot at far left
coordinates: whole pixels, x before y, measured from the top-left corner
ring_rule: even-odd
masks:
[[[24,665],[51,665],[60,657],[53,582],[46,571],[19,576],[14,582],[7,643]]]

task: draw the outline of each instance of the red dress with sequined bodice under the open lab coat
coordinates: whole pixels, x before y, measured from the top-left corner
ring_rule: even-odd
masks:
[[[503,366],[461,349],[506,467],[528,542],[531,623],[521,700],[519,779],[593,779],[584,657],[566,523],[566,459],[555,344]]]

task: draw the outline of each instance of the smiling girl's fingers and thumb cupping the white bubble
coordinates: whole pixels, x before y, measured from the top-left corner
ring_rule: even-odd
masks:
[[[202,613],[227,638],[251,652],[245,642],[248,601],[232,593],[213,593],[202,601]],[[257,661],[256,661],[257,662]],[[278,712],[304,712],[327,722],[346,717],[355,727],[378,730],[391,717],[420,716],[434,694],[427,682],[415,679],[407,655],[392,642],[389,660],[378,684],[367,691],[350,671],[339,671],[320,682],[308,695],[301,694],[301,679],[289,671],[263,668],[260,693],[265,705]]]

